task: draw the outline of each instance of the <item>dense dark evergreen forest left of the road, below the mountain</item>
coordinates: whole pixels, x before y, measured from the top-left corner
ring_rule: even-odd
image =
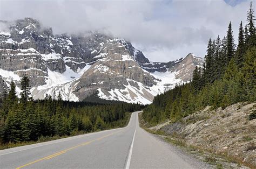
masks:
[[[122,127],[129,120],[129,112],[141,109],[140,104],[117,101],[63,101],[60,94],[33,101],[26,76],[21,81],[21,98],[15,88],[11,82],[0,107],[0,145]]]

